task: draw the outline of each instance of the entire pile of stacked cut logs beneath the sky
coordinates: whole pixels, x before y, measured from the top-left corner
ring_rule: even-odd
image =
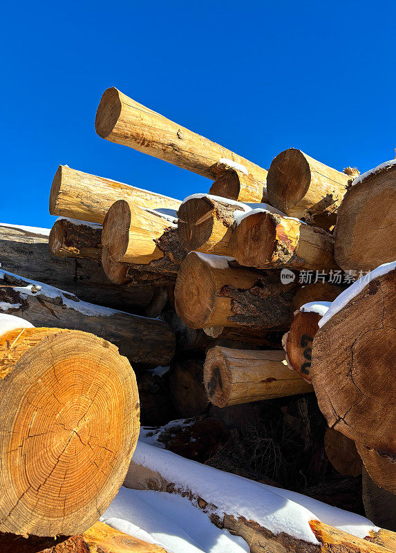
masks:
[[[396,529],[395,162],[358,176],[287,149],[267,171],[115,88],[95,128],[212,184],[180,201],[61,165],[50,232],[0,226],[0,309],[23,319],[0,328],[0,530],[126,543],[86,530],[129,467],[127,487],[184,494],[253,552],[392,550],[326,511],[300,534],[247,520],[202,482],[220,468]],[[131,462],[139,411],[144,447],[202,480],[142,444]]]

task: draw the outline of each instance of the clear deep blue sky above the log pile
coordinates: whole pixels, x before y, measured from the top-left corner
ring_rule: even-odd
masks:
[[[393,158],[395,17],[390,1],[4,3],[0,221],[50,227],[59,164],[180,199],[209,189],[96,135],[109,86],[263,167],[288,147],[337,169]]]

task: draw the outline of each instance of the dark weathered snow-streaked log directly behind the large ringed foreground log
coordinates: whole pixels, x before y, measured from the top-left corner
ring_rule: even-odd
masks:
[[[166,365],[173,357],[175,338],[164,321],[95,306],[59,288],[3,270],[0,277],[3,312],[26,318],[35,326],[92,332],[113,342],[131,362]]]

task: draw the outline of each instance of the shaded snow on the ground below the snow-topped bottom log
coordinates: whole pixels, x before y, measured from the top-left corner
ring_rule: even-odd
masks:
[[[170,553],[245,553],[247,543],[209,521],[187,498],[120,488],[100,517],[109,526]]]

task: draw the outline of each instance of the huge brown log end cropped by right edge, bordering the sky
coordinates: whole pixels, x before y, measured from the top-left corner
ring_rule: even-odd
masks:
[[[343,270],[370,271],[396,259],[396,165],[365,175],[337,214],[334,254]]]

